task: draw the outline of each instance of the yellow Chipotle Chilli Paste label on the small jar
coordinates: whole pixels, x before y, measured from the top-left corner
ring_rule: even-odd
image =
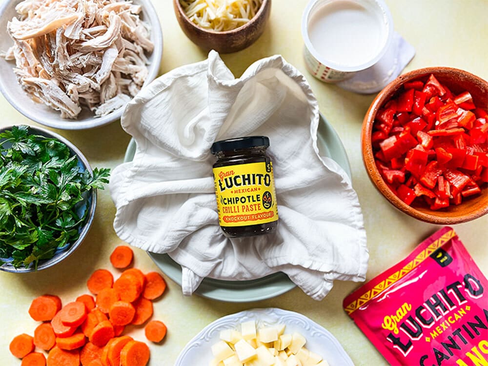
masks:
[[[278,220],[272,163],[213,169],[221,226],[247,226]]]

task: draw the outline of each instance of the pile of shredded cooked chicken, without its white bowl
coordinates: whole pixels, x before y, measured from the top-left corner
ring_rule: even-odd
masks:
[[[36,102],[76,119],[82,106],[105,116],[139,92],[152,52],[141,6],[127,0],[24,0],[8,22],[22,88]]]

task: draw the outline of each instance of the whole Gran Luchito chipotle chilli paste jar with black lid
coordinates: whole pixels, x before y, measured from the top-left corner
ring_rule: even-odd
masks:
[[[210,152],[219,224],[225,236],[263,235],[276,230],[278,209],[269,139],[249,136],[217,141]]]

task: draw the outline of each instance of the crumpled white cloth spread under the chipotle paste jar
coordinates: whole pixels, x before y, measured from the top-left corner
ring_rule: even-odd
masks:
[[[310,86],[281,56],[253,63],[239,79],[214,51],[168,72],[122,116],[137,149],[110,179],[117,235],[181,264],[187,295],[204,277],[250,280],[278,271],[317,300],[334,280],[364,281],[361,208],[345,171],[319,156],[318,122]],[[270,139],[280,221],[274,234],[227,239],[210,146],[250,135]]]

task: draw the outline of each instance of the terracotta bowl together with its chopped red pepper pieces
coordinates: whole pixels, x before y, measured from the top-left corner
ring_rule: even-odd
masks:
[[[379,191],[419,220],[457,224],[488,212],[488,82],[432,67],[400,76],[371,104],[363,159]]]

